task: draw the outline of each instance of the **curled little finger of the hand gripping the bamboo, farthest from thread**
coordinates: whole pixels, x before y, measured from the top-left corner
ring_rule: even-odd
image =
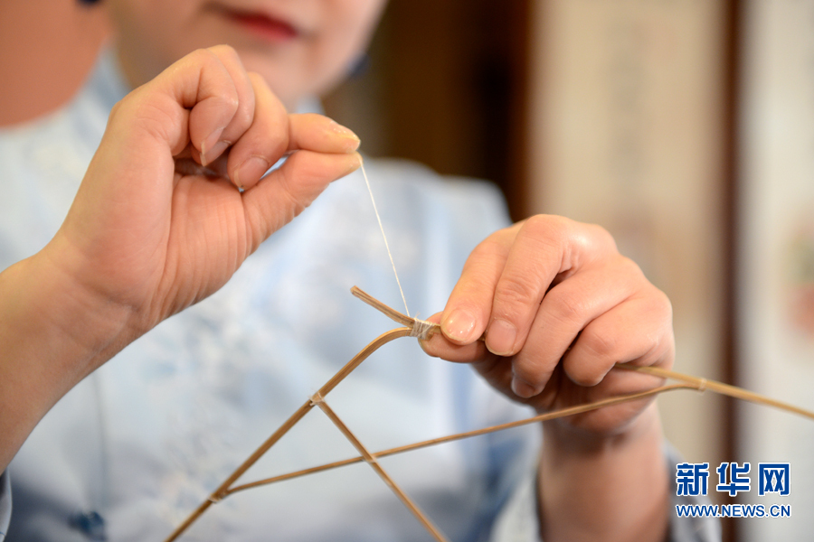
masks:
[[[670,367],[674,343],[670,303],[652,287],[589,323],[565,355],[563,369],[574,383],[595,386],[616,363]]]

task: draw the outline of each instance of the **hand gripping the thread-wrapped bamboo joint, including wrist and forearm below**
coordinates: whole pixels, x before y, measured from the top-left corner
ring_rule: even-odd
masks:
[[[667,297],[597,226],[538,216],[472,252],[436,334],[422,347],[468,362],[538,412],[654,388],[617,362],[669,368]],[[484,334],[485,341],[478,341]],[[659,540],[667,468],[648,399],[544,425],[540,514],[545,540]]]

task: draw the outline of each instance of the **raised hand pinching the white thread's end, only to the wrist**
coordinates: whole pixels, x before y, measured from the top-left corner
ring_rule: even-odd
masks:
[[[124,308],[137,336],[225,284],[359,167],[358,145],[326,117],[287,115],[231,48],[195,51],[114,108],[44,252],[89,306]]]

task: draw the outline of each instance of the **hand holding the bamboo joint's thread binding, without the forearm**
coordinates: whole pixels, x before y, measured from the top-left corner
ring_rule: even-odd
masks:
[[[658,379],[617,362],[669,368],[672,309],[639,266],[598,226],[536,216],[472,252],[430,355],[469,362],[488,383],[538,412],[653,388]],[[485,341],[478,339],[486,332]],[[623,431],[642,399],[566,418],[594,435]]]

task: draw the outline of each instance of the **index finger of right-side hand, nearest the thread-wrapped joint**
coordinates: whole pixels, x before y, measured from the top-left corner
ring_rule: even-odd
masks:
[[[450,341],[469,344],[486,329],[495,285],[517,229],[519,226],[513,226],[493,233],[467,258],[440,320],[441,332]]]

